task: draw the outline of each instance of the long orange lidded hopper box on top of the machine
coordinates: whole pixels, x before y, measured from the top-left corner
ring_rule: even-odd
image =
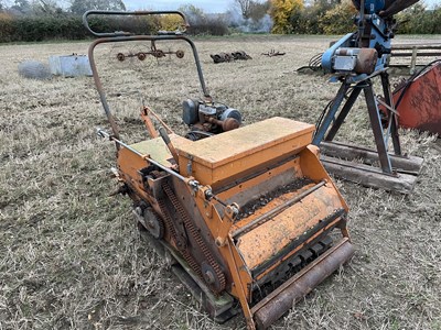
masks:
[[[298,153],[311,141],[313,130],[311,124],[275,117],[240,130],[175,145],[180,168],[200,183],[213,185]],[[191,172],[185,173],[186,169]]]

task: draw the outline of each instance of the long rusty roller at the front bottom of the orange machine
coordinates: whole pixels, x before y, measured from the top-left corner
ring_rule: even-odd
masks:
[[[257,329],[267,329],[279,319],[292,305],[308,295],[323,279],[334,273],[354,254],[354,248],[344,238],[335,246],[327,250],[313,263],[286,282],[278,289],[252,307]]]

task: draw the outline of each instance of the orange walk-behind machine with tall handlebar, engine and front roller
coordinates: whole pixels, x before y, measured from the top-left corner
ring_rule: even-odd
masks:
[[[128,144],[119,136],[94,51],[132,41],[190,44],[204,99],[183,102],[185,138],[147,107],[141,118],[151,139]],[[239,305],[248,329],[266,329],[352,257],[348,208],[311,144],[313,125],[276,117],[240,127],[240,112],[207,94],[184,35],[106,34],[89,57],[112,130],[98,134],[117,146],[119,191],[211,317],[225,321]]]

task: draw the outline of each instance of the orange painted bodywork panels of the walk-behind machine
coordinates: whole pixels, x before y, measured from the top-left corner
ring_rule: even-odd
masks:
[[[321,165],[318,148],[309,145],[313,130],[311,124],[272,118],[201,141],[170,134],[178,152],[180,175],[194,178],[201,186],[195,189],[176,179],[170,182],[225,271],[226,289],[239,300],[249,329],[255,329],[250,302],[257,282],[271,276],[287,260],[335,227],[342,237],[348,237],[347,206]],[[173,156],[160,138],[130,147],[174,168]],[[131,197],[148,201],[163,217],[142,180],[141,169],[149,166],[146,156],[121,147],[118,169],[135,191]],[[305,184],[276,195],[252,215],[235,219],[236,204],[243,207],[259,202],[262,191],[278,190],[297,180]],[[207,199],[207,191],[217,191],[217,199],[223,202]],[[342,212],[330,218],[336,210]],[[268,219],[249,227],[259,217]],[[299,239],[301,242],[291,249]],[[164,240],[176,248],[170,233],[165,232]],[[254,274],[257,268],[262,270]]]

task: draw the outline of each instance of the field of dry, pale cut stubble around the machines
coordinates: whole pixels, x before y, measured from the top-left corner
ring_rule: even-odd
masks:
[[[295,68],[329,37],[196,40],[212,96],[239,109],[245,124],[283,116],[314,123],[337,86]],[[400,38],[399,42],[407,40]],[[98,50],[111,106],[132,142],[147,136],[143,100],[180,133],[181,102],[198,95],[189,50],[175,57],[115,62]],[[147,45],[148,46],[148,45]],[[215,324],[140,238],[128,198],[108,197],[115,148],[90,77],[36,81],[24,59],[86,54],[88,43],[0,46],[0,329],[244,329]],[[169,45],[164,50],[180,45]],[[284,56],[266,57],[270,50]],[[243,50],[251,61],[213,64]],[[372,144],[366,111],[354,111],[341,141]],[[349,207],[353,261],[271,329],[441,329],[441,143],[402,131],[404,150],[424,157],[410,196],[337,180]]]

